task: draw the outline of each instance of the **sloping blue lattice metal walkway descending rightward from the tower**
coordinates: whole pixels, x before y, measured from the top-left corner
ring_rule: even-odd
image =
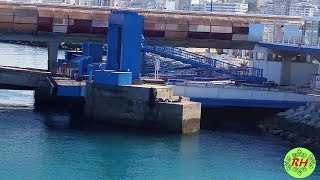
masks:
[[[214,71],[220,74],[227,74],[236,80],[245,80],[251,83],[266,81],[263,78],[263,70],[254,67],[239,67],[218,59],[212,59],[183,49],[165,46],[155,41],[143,40],[142,51],[156,54],[165,58],[190,64],[193,67],[201,68],[204,71]]]

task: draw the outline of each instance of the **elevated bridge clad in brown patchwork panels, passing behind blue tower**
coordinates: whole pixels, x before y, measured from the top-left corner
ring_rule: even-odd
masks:
[[[248,41],[249,23],[302,23],[301,17],[199,13],[184,11],[155,11],[142,9],[96,8],[73,6],[54,6],[45,4],[0,3],[0,38],[8,32],[32,34],[34,40],[41,41],[42,33],[48,33],[51,39],[59,37],[58,42],[65,39],[80,38],[80,42],[105,42],[108,28],[108,16],[112,10],[137,11],[145,17],[144,35],[180,41],[186,40],[216,41]],[[74,37],[68,37],[73,35]],[[77,37],[77,38],[75,38]],[[19,38],[23,38],[20,36]],[[82,39],[81,39],[82,38]],[[86,39],[83,39],[86,38]],[[22,40],[22,39],[20,39]],[[44,38],[44,41],[48,39]],[[49,37],[50,40],[50,37]],[[179,42],[179,41],[177,41]],[[191,42],[188,42],[190,44]],[[198,42],[202,44],[205,42]],[[208,44],[203,45],[205,47]],[[194,46],[197,47],[197,46]]]

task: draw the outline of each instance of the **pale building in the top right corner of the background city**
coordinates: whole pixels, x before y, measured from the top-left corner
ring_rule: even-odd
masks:
[[[291,16],[313,16],[317,13],[318,7],[307,2],[294,3],[290,6]]]

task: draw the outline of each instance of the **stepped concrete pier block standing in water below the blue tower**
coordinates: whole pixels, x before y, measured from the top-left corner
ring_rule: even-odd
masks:
[[[201,104],[189,100],[178,102],[168,86],[87,82],[85,114],[97,122],[191,133],[200,129]]]

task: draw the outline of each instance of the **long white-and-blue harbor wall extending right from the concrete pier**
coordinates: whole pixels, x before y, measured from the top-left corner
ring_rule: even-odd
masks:
[[[307,102],[319,102],[320,97],[265,87],[237,87],[215,84],[176,85],[175,96],[190,97],[203,106],[243,106],[292,108]]]

